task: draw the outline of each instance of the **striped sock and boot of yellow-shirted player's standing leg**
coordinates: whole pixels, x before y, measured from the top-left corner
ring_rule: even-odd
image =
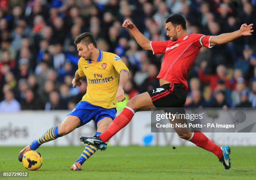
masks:
[[[95,135],[100,135],[100,134],[101,134],[100,132],[96,132]],[[97,150],[98,150],[98,147],[95,145],[86,145],[81,156],[74,162],[70,170],[74,170],[74,171],[82,170],[81,166],[83,165],[83,163],[87,159],[89,159]]]

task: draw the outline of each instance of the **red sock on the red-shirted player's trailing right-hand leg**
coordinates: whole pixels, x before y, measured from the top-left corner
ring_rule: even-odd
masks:
[[[190,141],[195,145],[214,153],[219,159],[223,156],[220,147],[208,139],[203,133],[195,131],[192,136]]]

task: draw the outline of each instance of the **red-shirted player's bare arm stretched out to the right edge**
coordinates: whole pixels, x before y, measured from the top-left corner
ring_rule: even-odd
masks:
[[[241,28],[237,31],[230,32],[230,33],[224,33],[224,34],[217,35],[217,36],[212,36],[210,38],[210,45],[214,46],[214,45],[220,45],[223,43],[227,43],[227,42],[233,41],[236,38],[241,37],[241,36],[252,35],[252,32],[253,32],[253,24],[250,24],[250,25],[243,24],[243,25],[241,25]]]

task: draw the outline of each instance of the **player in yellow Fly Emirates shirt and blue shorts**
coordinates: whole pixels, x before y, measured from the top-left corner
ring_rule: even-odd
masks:
[[[123,86],[128,80],[129,70],[118,55],[102,52],[91,33],[79,35],[77,45],[80,59],[78,70],[72,80],[74,87],[81,86],[83,77],[87,78],[87,92],[82,100],[59,125],[46,130],[37,140],[20,151],[18,160],[29,150],[36,150],[43,143],[67,135],[74,129],[94,120],[97,125],[96,135],[107,130],[115,119],[116,101],[125,100]],[[81,165],[97,151],[95,145],[86,145],[82,155],[71,166],[70,170],[81,170]]]

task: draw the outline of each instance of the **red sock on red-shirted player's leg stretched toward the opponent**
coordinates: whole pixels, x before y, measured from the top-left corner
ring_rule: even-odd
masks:
[[[125,107],[123,111],[117,117],[115,117],[108,129],[100,135],[100,139],[106,143],[113,135],[115,135],[131,121],[133,115],[134,111],[131,109],[131,107]]]

